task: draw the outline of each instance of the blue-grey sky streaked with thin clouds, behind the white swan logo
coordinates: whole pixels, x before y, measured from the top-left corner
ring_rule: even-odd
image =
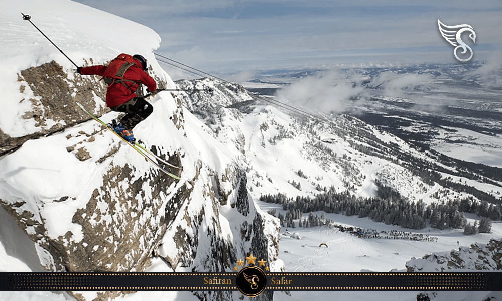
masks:
[[[475,44],[462,36],[474,50],[472,60],[494,60],[502,50],[499,0],[77,2],[154,29],[162,38],[157,53],[210,73],[455,63],[438,19],[474,28]]]

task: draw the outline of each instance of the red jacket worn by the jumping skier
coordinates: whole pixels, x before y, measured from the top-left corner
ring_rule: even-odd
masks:
[[[129,67],[126,73],[123,75],[123,79],[132,80],[135,83],[126,82],[128,86],[132,85],[130,89],[126,88],[121,83],[115,83],[108,86],[106,92],[106,106],[114,107],[120,105],[128,100],[137,97],[134,93],[138,87],[138,83],[142,83],[147,86],[150,91],[155,91],[157,89],[157,83],[153,78],[150,77],[143,69],[141,69],[141,63],[138,60],[134,60],[135,65]],[[104,70],[107,66],[96,65],[89,67],[82,67],[80,73],[83,75],[100,75],[103,76]]]

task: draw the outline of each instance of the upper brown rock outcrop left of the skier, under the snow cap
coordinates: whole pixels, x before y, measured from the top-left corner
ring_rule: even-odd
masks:
[[[8,130],[4,129],[4,132],[0,128],[0,156],[29,139],[56,133],[88,119],[82,110],[73,105],[75,101],[98,108],[98,114],[109,111],[95,100],[94,96],[104,99],[106,93],[106,86],[97,81],[97,77],[68,78],[56,61],[21,70],[18,84],[19,106],[25,107],[19,118],[27,124],[27,130],[25,134],[9,135],[5,133]]]

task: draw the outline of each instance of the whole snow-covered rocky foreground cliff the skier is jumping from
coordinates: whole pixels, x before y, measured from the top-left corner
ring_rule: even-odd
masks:
[[[0,204],[6,218],[0,270],[230,271],[249,252],[269,262],[271,270],[283,268],[277,260],[277,221],[255,206],[235,152],[208,134],[211,130],[170,93],[161,92],[148,99],[154,112],[134,130],[140,143],[182,167],[171,170],[181,175],[179,181],[161,173],[75,106],[79,101],[105,122],[118,116],[104,107],[99,79],[76,74],[20,11],[78,65],[140,53],[158,86],[175,88],[153,56],[160,39],[149,28],[66,0],[3,7]],[[135,38],[124,39],[122,28]],[[220,256],[222,250],[226,256]],[[72,294],[86,300],[120,295]]]

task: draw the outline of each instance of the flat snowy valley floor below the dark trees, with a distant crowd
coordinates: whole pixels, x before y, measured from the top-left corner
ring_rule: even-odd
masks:
[[[257,202],[262,210],[276,209],[285,214],[277,204]],[[313,212],[321,215],[321,211]],[[308,214],[303,214],[307,217]],[[474,223],[475,216],[465,215]],[[437,230],[426,227],[422,230],[404,229],[398,226],[375,223],[368,218],[347,217],[342,214],[325,214],[338,225],[372,229],[376,232],[390,231],[426,235],[433,241],[410,239],[358,238],[335,227],[282,228],[279,242],[279,259],[284,261],[289,272],[359,272],[361,270],[388,272],[406,271],[405,263],[412,257],[422,258],[427,253],[446,252],[459,246],[473,243],[486,244],[492,238],[502,237],[502,223],[492,222],[489,234],[464,235],[462,229]],[[480,220],[479,217],[477,217]],[[298,221],[296,222],[298,225]],[[408,234],[408,236],[411,236]],[[300,239],[296,239],[296,237]],[[416,235],[415,235],[416,236]],[[437,238],[434,239],[434,238]],[[458,241],[458,245],[457,245]],[[328,247],[319,247],[325,243]]]

